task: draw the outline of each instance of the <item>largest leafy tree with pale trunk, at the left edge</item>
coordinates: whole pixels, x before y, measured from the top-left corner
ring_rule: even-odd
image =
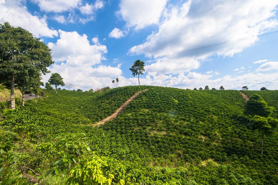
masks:
[[[15,109],[15,84],[37,72],[48,73],[53,63],[51,49],[39,38],[21,27],[0,24],[0,83],[11,86],[11,109]]]

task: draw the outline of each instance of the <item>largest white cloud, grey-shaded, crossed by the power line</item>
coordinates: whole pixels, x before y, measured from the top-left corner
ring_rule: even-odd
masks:
[[[165,10],[158,31],[149,35],[144,43],[132,47],[129,54],[144,54],[155,59],[174,53],[172,58],[187,57],[192,58],[189,60],[192,62],[212,55],[232,57],[259,40],[251,36],[265,33],[278,25],[275,19],[277,4],[276,0],[267,3],[260,0],[189,0],[182,6]],[[249,39],[187,51],[240,38]]]

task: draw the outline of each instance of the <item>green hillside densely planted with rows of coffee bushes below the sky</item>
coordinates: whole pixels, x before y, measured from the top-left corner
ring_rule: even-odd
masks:
[[[94,126],[143,89],[147,90],[115,118]],[[272,117],[278,118],[278,91],[244,93],[259,93],[276,108]],[[101,160],[107,162],[109,170],[102,163],[101,172],[107,179],[113,174],[112,183],[277,184],[277,131],[265,139],[262,156],[258,133],[250,130],[243,114],[245,102],[237,90],[155,86],[127,86],[105,92],[58,90],[57,94],[46,90],[37,102],[30,100],[25,107],[5,110],[1,125],[17,133],[14,142],[22,157],[19,165],[40,174],[36,179],[41,184],[63,184],[67,179],[58,168],[55,176],[44,176],[59,159],[61,146],[51,144],[57,146],[58,136],[63,141],[75,138],[81,141],[76,146],[90,148],[77,158],[104,156]],[[86,136],[65,135],[69,133]],[[67,140],[65,146],[72,142]],[[60,154],[66,154],[73,149],[60,150]],[[67,159],[62,158],[64,162]],[[25,172],[35,176],[30,170]],[[70,171],[65,173],[69,176]]]

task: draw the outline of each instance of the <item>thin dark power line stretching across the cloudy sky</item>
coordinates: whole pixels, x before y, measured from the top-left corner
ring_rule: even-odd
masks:
[[[175,55],[175,54],[179,54],[179,53],[188,53],[188,52],[192,52],[192,51],[198,51],[198,50],[201,50],[201,49],[206,49],[206,48],[210,48],[210,47],[216,47],[216,46],[224,45],[224,44],[227,44],[227,43],[234,43],[234,42],[239,42],[239,41],[243,41],[243,40],[246,40],[246,39],[251,39],[253,37],[262,37],[262,36],[273,35],[273,34],[277,34],[277,33],[278,33],[278,31],[272,31],[272,32],[263,33],[263,34],[260,34],[260,35],[254,35],[254,36],[245,37],[245,38],[241,38],[241,39],[230,40],[230,41],[226,41],[226,42],[222,42],[222,43],[211,44],[211,45],[208,45],[208,46],[196,47],[196,48],[189,49],[189,50],[183,50],[183,51],[178,51],[178,52],[175,52],[175,53],[169,53],[169,54],[165,54],[165,55],[160,55],[160,56],[157,56],[155,58],[157,59],[157,58],[165,57],[165,56],[168,56],[168,55]],[[153,59],[153,57],[148,57],[148,58],[145,58],[145,59],[142,59],[142,60],[148,60],[148,59]],[[130,63],[130,62],[134,62],[134,61],[122,62],[122,63]],[[74,72],[83,72],[83,71],[90,71],[90,70],[91,69],[89,69],[89,70],[82,70],[82,71],[66,72],[66,73],[60,73],[60,74],[67,74],[67,73],[74,73]]]

